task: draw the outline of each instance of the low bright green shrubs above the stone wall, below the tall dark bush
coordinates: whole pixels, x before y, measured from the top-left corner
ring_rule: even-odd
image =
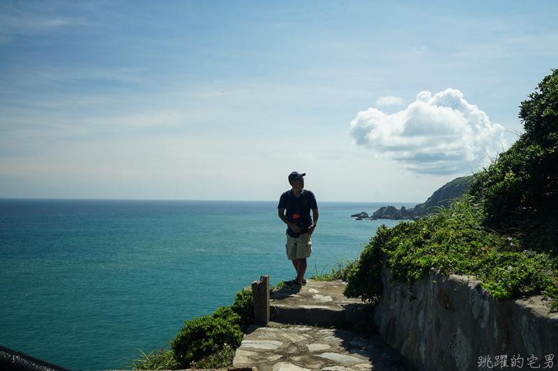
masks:
[[[539,293],[558,298],[557,261],[547,253],[523,250],[515,237],[484,228],[482,206],[478,198],[464,196],[431,218],[380,227],[349,271],[345,294],[374,302],[386,258],[394,281],[413,283],[436,267],[445,275],[480,278],[496,300]]]

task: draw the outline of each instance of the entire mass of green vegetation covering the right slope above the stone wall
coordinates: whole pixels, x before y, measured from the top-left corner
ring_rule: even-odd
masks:
[[[440,214],[382,226],[347,272],[345,294],[374,302],[382,261],[412,283],[430,268],[481,278],[494,299],[543,294],[558,307],[558,72],[522,102],[525,134]]]

